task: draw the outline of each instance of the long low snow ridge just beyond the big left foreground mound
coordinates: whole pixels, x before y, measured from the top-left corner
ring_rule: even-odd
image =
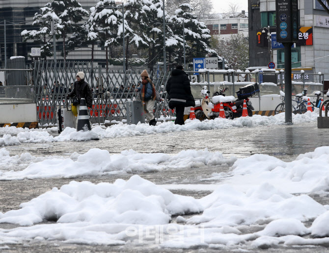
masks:
[[[156,172],[163,169],[200,168],[233,164],[235,157],[224,158],[219,152],[188,150],[175,155],[164,153],[137,153],[133,150],[112,154],[106,150],[91,149],[84,154],[76,152],[70,158],[50,157],[30,164],[22,171],[0,171],[0,180],[23,180],[49,177],[101,176],[117,172]]]

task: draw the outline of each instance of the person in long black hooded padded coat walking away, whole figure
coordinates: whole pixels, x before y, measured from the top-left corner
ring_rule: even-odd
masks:
[[[169,96],[169,108],[176,109],[175,124],[184,125],[184,108],[195,106],[195,101],[191,92],[189,76],[183,70],[182,65],[178,65],[172,71],[166,90]]]

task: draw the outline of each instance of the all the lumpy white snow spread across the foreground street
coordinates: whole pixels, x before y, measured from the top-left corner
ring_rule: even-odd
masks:
[[[200,178],[200,184],[194,187],[214,189],[201,199],[173,194],[166,189],[170,186],[156,185],[138,175],[114,183],[71,181],[22,203],[18,210],[0,212],[0,223],[20,226],[0,229],[1,244],[36,239],[252,250],[329,243],[329,205],[307,195],[329,195],[329,147],[301,154],[291,162],[263,154],[224,158],[221,153],[207,150],[173,155],[135,151],[110,155],[92,149],[84,154],[72,153],[69,158],[36,158],[28,153],[11,157],[2,148],[0,164],[26,164],[18,171],[0,167],[2,180],[230,166],[227,173]],[[209,187],[202,184],[207,180],[218,182]],[[250,227],[253,229],[246,232]]]

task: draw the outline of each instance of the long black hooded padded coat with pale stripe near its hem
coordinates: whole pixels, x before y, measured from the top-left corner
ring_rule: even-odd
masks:
[[[169,96],[168,98],[170,108],[182,105],[185,107],[195,106],[195,101],[191,92],[190,79],[185,71],[174,69],[171,73],[171,77],[167,82],[166,90]]]

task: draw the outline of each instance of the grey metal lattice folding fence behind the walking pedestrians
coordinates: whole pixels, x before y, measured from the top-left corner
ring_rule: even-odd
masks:
[[[105,121],[122,121],[126,119],[126,101],[137,97],[135,88],[141,83],[142,70],[131,69],[123,73],[122,70],[109,70],[101,66],[93,66],[91,62],[38,61],[34,65],[33,80],[36,91],[36,103],[39,123],[55,124],[55,112],[59,106],[66,107],[71,103],[67,94],[71,91],[75,76],[82,71],[85,80],[90,84],[93,92],[93,106],[89,110],[92,123]],[[165,85],[170,72],[149,73],[155,88],[166,101]],[[157,102],[154,108],[155,117],[171,116],[166,102]]]

